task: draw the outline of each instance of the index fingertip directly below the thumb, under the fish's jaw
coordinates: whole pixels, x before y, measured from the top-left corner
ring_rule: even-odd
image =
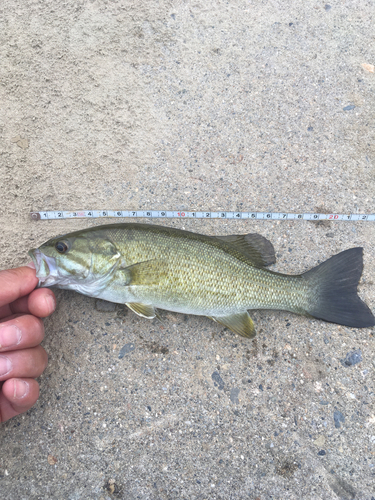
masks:
[[[49,288],[38,288],[30,295],[20,297],[11,304],[0,308],[0,318],[16,313],[30,313],[45,318],[56,309],[55,294]]]

